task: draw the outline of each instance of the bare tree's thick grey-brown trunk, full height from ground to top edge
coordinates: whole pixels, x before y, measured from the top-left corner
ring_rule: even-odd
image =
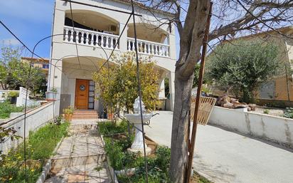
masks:
[[[179,61],[175,70],[175,101],[171,137],[170,179],[174,183],[186,183],[188,161],[188,117],[194,68],[201,58],[201,46],[210,7],[208,0],[192,0],[186,22],[180,35]]]

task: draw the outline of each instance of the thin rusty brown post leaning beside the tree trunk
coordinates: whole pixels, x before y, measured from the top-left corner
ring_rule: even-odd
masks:
[[[208,13],[208,19],[206,22],[206,31],[205,36],[203,37],[203,50],[201,54],[201,68],[199,70],[199,77],[198,77],[198,90],[196,93],[196,107],[194,109],[193,115],[193,125],[191,131],[191,144],[188,146],[188,164],[187,164],[187,172],[186,172],[186,182],[190,182],[191,180],[191,169],[192,169],[192,162],[193,162],[193,152],[196,142],[196,130],[197,130],[197,117],[198,117],[198,107],[199,107],[199,99],[201,97],[201,87],[203,85],[203,70],[205,68],[205,61],[206,61],[206,47],[208,41],[208,33],[210,30],[210,23],[211,23],[211,14],[212,14],[213,3],[211,2],[210,10]],[[189,138],[189,134],[188,134]]]

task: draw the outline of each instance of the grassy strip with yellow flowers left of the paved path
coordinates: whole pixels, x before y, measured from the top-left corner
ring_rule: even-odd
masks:
[[[26,167],[23,162],[23,144],[11,150],[8,155],[1,155],[0,182],[24,183],[26,174],[29,182],[36,182],[43,164],[53,155],[53,150],[61,138],[68,134],[68,126],[68,122],[60,125],[49,123],[36,132],[30,132],[26,141]]]

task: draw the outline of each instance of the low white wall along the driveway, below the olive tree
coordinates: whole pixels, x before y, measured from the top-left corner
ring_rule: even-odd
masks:
[[[293,147],[293,120],[215,106],[209,124]]]

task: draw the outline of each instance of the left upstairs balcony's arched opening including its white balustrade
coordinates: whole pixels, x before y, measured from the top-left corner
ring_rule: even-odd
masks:
[[[65,11],[64,25],[63,41],[110,49],[118,43],[119,22],[104,14],[95,11],[73,10],[71,16],[71,12],[68,10]]]

